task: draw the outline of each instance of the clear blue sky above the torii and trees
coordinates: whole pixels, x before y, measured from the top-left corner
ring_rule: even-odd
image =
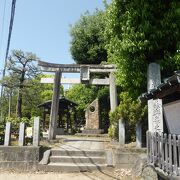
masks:
[[[5,2],[4,29],[2,29]],[[1,70],[7,45],[10,8],[11,0],[1,0]],[[17,0],[10,51],[21,49],[35,53],[44,61],[74,63],[69,52],[70,25],[78,21],[80,15],[87,10],[92,13],[96,8],[104,9],[103,0]]]

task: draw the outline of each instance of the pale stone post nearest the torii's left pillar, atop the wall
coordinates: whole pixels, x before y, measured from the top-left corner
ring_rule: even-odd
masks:
[[[40,140],[40,120],[39,117],[34,118],[34,129],[33,129],[33,146],[39,146]]]

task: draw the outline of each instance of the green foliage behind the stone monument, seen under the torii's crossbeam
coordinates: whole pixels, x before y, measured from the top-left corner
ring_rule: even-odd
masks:
[[[84,84],[74,85],[66,92],[65,96],[78,104],[76,108],[77,118],[83,123],[85,123],[85,109],[93,100],[98,98],[101,127],[107,131],[109,126],[108,113],[110,108],[108,87],[87,86]]]

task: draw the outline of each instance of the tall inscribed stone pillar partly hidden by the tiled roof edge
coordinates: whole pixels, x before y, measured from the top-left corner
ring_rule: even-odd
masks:
[[[147,90],[157,88],[161,84],[160,65],[149,64]],[[148,128],[150,132],[163,132],[162,99],[148,100]]]

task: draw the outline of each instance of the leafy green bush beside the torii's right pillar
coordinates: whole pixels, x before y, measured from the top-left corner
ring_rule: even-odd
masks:
[[[110,128],[109,135],[112,138],[118,139],[118,121],[122,119],[128,125],[131,138],[135,135],[137,122],[142,122],[147,116],[147,106],[144,106],[140,101],[133,100],[128,92],[120,94],[121,103],[110,113]],[[127,133],[128,134],[128,133]]]

